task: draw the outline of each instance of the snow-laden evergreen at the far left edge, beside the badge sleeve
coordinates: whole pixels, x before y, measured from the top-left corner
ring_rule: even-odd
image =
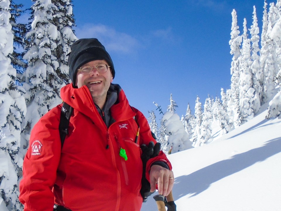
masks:
[[[26,113],[22,90],[16,86],[16,69],[11,65],[13,33],[10,23],[10,1],[0,1],[0,206],[22,210],[18,200],[18,178],[23,159],[20,148],[20,124]],[[4,203],[4,204],[3,204]]]

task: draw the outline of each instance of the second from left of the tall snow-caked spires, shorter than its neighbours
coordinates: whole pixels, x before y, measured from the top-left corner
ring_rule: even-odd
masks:
[[[240,57],[240,77],[239,77],[239,98],[240,98],[240,118],[241,123],[249,121],[253,118],[253,99],[255,89],[253,88],[253,74],[251,70],[251,44],[247,35],[247,21],[244,18],[243,28],[243,44],[242,55]]]

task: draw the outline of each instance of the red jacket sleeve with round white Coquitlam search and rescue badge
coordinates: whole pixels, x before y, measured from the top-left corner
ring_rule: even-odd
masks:
[[[19,200],[25,211],[53,211],[56,170],[61,155],[60,106],[53,108],[34,126],[23,161]]]

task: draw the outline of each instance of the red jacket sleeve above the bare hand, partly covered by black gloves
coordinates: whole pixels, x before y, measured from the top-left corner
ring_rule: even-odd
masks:
[[[148,121],[145,118],[145,116],[143,115],[143,113],[141,113],[136,108],[133,108],[133,110],[136,112],[137,122],[138,122],[138,125],[140,126],[140,135],[139,135],[139,137],[140,137],[140,145],[141,144],[148,145],[149,142],[151,142],[151,141],[156,143],[155,139],[151,135],[151,130],[150,130]],[[149,159],[147,161],[147,163],[146,163],[146,173],[145,173],[145,176],[146,176],[146,179],[149,182],[150,182],[149,172],[150,172],[151,164],[153,164],[155,161],[165,162],[169,166],[169,169],[172,170],[172,165],[171,165],[170,161],[168,160],[167,156],[165,155],[164,152],[160,151],[158,156]]]

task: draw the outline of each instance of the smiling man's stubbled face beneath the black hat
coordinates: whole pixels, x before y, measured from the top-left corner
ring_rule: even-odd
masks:
[[[93,101],[95,103],[100,100],[105,101],[110,83],[113,81],[110,67],[105,73],[99,73],[95,68],[98,64],[107,64],[107,62],[105,60],[95,60],[92,62],[88,62],[83,66],[89,65],[91,67],[94,67],[92,68],[92,72],[88,75],[84,75],[78,70],[76,75],[76,86],[80,88],[86,85],[90,90]]]

